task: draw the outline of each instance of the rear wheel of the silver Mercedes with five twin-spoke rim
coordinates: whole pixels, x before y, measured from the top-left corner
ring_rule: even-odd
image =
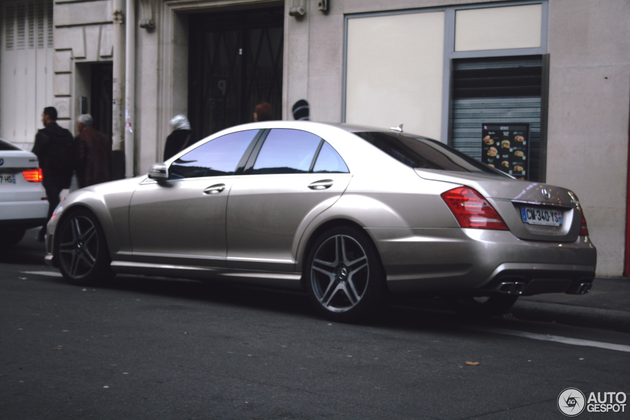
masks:
[[[313,244],[306,288],[318,312],[337,322],[370,320],[386,296],[381,259],[369,236],[355,228],[326,231]]]

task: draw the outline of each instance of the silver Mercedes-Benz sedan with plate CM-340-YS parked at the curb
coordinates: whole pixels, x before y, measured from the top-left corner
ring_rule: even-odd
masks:
[[[306,290],[352,321],[387,295],[488,315],[519,295],[587,293],[597,253],[578,197],[398,131],[306,121],[231,127],[148,175],[70,194],[46,260],[115,273]]]

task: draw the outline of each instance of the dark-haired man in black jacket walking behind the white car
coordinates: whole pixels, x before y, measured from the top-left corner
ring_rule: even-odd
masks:
[[[76,147],[74,137],[68,130],[57,125],[57,110],[54,107],[43,109],[44,128],[35,135],[33,153],[37,155],[42,168],[43,187],[48,197],[48,220],[59,204],[62,189],[69,188],[72,170],[76,166]],[[37,240],[43,241],[46,225],[37,234]]]

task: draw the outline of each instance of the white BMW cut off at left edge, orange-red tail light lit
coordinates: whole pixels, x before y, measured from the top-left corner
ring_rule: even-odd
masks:
[[[46,223],[42,180],[34,153],[0,139],[0,247],[16,245],[26,229]]]

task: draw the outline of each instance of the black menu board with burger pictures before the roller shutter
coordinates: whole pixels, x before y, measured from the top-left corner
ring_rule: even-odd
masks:
[[[481,124],[481,161],[519,179],[528,179],[529,124]]]

